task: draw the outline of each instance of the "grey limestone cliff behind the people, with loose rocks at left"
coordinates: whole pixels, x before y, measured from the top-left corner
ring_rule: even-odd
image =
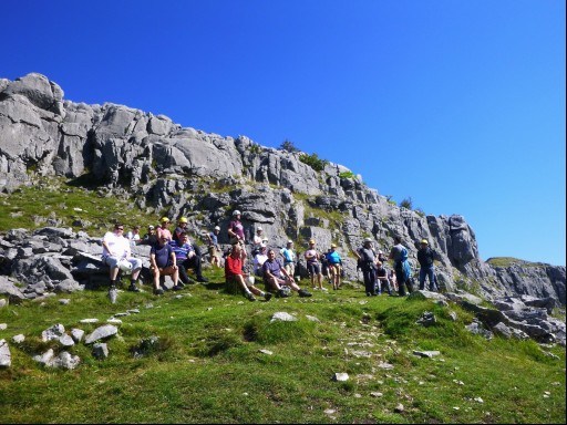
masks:
[[[219,225],[221,243],[228,242],[230,212],[240,209],[248,236],[261,224],[277,247],[292,239],[302,250],[306,240],[316,238],[321,249],[332,240],[346,253],[371,236],[378,248],[388,250],[400,235],[414,266],[417,241],[425,238],[437,252],[444,290],[474,288],[491,299],[525,293],[565,304],[565,268],[495,269],[478,258],[475,235],[462,216],[400,208],[348,168],[329,163],[316,172],[300,156],[246,136],[182,127],[164,115],[123,105],[70,102],[41,74],[0,80],[0,191],[31,185],[38,176],[86,176],[101,190],[127,193],[140,207],[184,215],[193,228]],[[82,274],[71,263],[90,248],[76,242],[94,242],[85,235],[79,239],[34,234],[20,240],[9,232],[0,240],[1,273],[27,283],[24,297],[80,289]],[[84,269],[92,266],[83,260]],[[353,278],[354,260],[346,258],[344,266]],[[0,280],[0,288],[8,286]],[[19,298],[11,291],[10,297]]]

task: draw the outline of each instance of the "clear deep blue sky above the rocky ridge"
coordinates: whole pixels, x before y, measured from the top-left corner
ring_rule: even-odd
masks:
[[[2,0],[0,77],[45,74],[264,146],[285,139],[481,258],[565,266],[564,0]]]

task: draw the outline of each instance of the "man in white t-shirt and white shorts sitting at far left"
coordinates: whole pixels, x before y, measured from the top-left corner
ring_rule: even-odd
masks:
[[[132,257],[130,242],[124,237],[124,225],[116,222],[114,231],[107,231],[102,239],[102,262],[111,268],[110,291],[116,289],[118,265],[121,261],[127,261],[132,266],[128,291],[140,292],[140,289],[136,287],[136,280],[142,270],[142,260]]]

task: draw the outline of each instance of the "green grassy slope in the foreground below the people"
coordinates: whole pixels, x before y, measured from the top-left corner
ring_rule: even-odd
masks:
[[[565,350],[532,341],[486,341],[464,325],[470,313],[430,301],[368,299],[353,283],[310,299],[249,302],[210,283],[154,297],[105,290],[0,309],[0,339],[10,341],[12,366],[0,371],[0,417],[6,423],[565,423]],[[183,296],[176,298],[176,296]],[[74,371],[43,369],[41,331],[62,323],[87,333],[130,309],[110,356],[71,349]],[[270,322],[285,311],[296,322]],[[424,311],[437,323],[415,321]],[[309,320],[308,315],[318,321]],[[11,338],[23,333],[21,346]],[[158,336],[142,357],[141,340]],[[260,350],[268,350],[266,354]],[[414,350],[437,350],[422,359]],[[389,369],[392,367],[392,369]],[[334,382],[346,372],[347,382]],[[404,408],[394,412],[398,404]]]

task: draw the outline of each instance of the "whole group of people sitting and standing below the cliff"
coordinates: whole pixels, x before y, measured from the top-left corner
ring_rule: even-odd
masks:
[[[124,237],[124,226],[116,224],[113,231],[104,235],[102,247],[103,262],[110,267],[110,290],[116,287],[120,270],[131,276],[130,291],[138,292],[136,286],[142,260],[132,257],[132,247],[136,245],[151,246],[150,263],[153,276],[155,294],[163,294],[166,287],[164,278],[169,276],[173,280],[173,289],[183,289],[186,284],[193,283],[187,271],[193,269],[198,282],[207,282],[203,276],[200,248],[189,241],[187,231],[187,219],[179,218],[177,227],[169,230],[171,220],[163,217],[157,226],[148,226],[147,234],[140,236],[140,227],[134,226],[127,236]],[[218,246],[220,228],[215,226],[213,231],[207,234],[209,260],[213,266],[220,267],[221,253]],[[255,301],[261,297],[269,301],[272,292],[277,297],[289,297],[296,291],[299,297],[311,297],[311,293],[301,289],[296,282],[297,255],[293,251],[293,241],[288,240],[285,248],[277,250],[268,247],[268,238],[262,235],[264,229],[258,226],[251,240],[252,273],[245,272],[247,251],[245,248],[246,236],[241,222],[241,212],[235,210],[227,229],[230,240],[230,248],[224,253],[226,281],[236,284],[245,297]],[[401,238],[394,239],[395,245],[385,258],[383,251],[378,252],[372,247],[370,238],[364,239],[363,246],[357,250],[358,267],[362,270],[364,290],[368,297],[379,296],[383,292],[393,294],[398,291],[400,296],[413,291],[411,266],[408,261],[408,249],[402,245]],[[279,253],[279,257],[277,257]],[[435,252],[431,250],[427,241],[421,241],[421,249],[417,251],[420,261],[420,289],[424,288],[425,278],[430,280],[430,290],[436,290],[434,274]],[[323,278],[329,280],[333,290],[341,289],[342,259],[337,251],[337,245],[331,243],[330,249],[322,253],[316,248],[316,241],[309,240],[309,248],[305,251],[307,270],[311,288],[327,291],[323,286]],[[392,260],[394,270],[385,268],[388,260]],[[262,280],[265,290],[255,286],[256,280]]]

